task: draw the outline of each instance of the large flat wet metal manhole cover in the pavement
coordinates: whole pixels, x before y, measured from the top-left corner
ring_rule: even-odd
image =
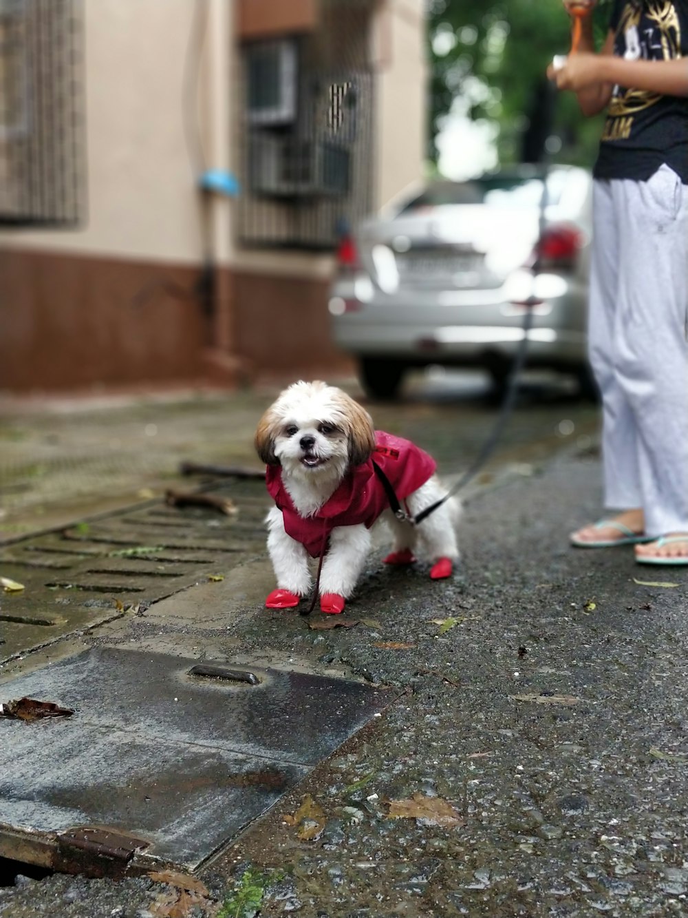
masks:
[[[82,845],[105,830],[137,839],[132,865],[197,868],[391,700],[341,679],[250,670],[256,681],[240,667],[238,680],[197,665],[107,648],[0,683],[2,701],[74,710],[0,718],[0,856],[18,846],[54,868],[72,830]],[[98,873],[92,860],[79,868]]]

